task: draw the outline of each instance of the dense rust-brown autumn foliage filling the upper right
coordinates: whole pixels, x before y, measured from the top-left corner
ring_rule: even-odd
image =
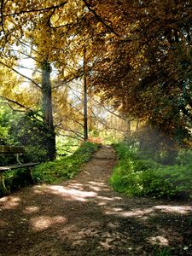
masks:
[[[189,139],[189,2],[90,1],[90,6],[103,20],[111,22],[110,35],[110,28],[101,26],[104,36],[99,35],[94,45],[90,81],[96,91],[104,90],[103,98],[113,98],[122,113],[148,120],[177,141]]]

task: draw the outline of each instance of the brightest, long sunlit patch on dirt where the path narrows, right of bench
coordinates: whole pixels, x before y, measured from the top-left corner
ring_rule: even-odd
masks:
[[[96,197],[96,192],[80,191],[78,189],[69,189],[62,186],[49,186],[49,189],[55,195],[61,195],[72,200],[86,201],[87,198]]]

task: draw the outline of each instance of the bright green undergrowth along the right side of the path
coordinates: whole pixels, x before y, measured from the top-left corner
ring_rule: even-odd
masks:
[[[192,151],[179,150],[172,165],[164,165],[125,143],[114,144],[119,162],[113,169],[113,189],[126,195],[192,198]]]

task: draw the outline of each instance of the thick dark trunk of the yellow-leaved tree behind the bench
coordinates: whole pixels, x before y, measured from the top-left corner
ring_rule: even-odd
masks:
[[[48,61],[42,62],[42,110],[44,125],[48,130],[45,138],[45,148],[49,160],[55,159],[55,127],[53,123],[53,108],[50,83],[51,67]]]

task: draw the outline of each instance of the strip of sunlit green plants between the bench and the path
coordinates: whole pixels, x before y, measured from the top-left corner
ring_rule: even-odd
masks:
[[[90,160],[98,145],[83,143],[74,154],[59,160],[46,162],[34,168],[34,178],[39,183],[56,183],[73,177],[79,172],[79,167]]]

